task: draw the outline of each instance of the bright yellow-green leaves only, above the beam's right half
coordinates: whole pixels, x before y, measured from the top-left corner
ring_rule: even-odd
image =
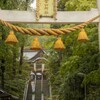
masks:
[[[85,11],[96,7],[96,0],[69,0],[65,4],[65,10]]]

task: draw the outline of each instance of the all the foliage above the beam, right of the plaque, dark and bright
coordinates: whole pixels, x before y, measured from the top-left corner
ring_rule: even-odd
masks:
[[[60,0],[58,10],[85,11],[96,8],[96,0]]]

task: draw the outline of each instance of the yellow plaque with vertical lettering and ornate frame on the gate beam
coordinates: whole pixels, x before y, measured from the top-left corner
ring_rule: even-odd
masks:
[[[51,17],[56,19],[57,0],[37,0],[36,1],[36,20],[41,17]]]

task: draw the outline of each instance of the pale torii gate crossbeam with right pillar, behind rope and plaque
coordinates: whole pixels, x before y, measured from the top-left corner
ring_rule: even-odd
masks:
[[[41,18],[36,21],[36,12],[30,11],[11,11],[0,10],[0,19],[10,23],[35,23],[35,24],[79,24],[83,23],[100,14],[100,0],[97,1],[97,9],[91,9],[91,11],[58,11],[57,20],[52,18]],[[93,21],[98,23],[98,37],[99,37],[99,50],[100,50],[100,20]]]

